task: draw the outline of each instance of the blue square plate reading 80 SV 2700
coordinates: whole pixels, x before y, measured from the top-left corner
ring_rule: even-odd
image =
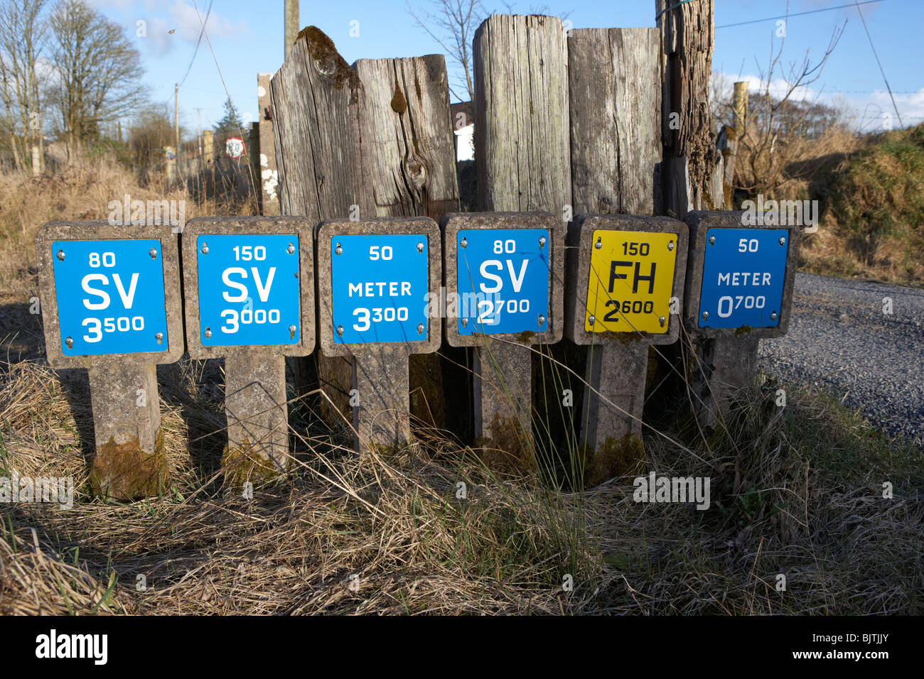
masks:
[[[456,246],[459,334],[548,330],[548,229],[461,230]]]

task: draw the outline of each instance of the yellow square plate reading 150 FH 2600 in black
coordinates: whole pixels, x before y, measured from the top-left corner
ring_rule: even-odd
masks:
[[[667,333],[677,235],[593,232],[587,314],[589,333]]]

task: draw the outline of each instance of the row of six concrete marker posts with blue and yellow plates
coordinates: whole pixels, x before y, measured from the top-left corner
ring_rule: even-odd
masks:
[[[530,394],[511,386],[529,371],[505,364],[495,346],[553,343],[564,330],[598,348],[581,420],[589,478],[602,480],[607,460],[640,449],[647,349],[676,337],[678,314],[711,356],[741,364],[733,374],[704,357],[708,424],[721,417],[727,385],[752,379],[754,338],[784,333],[797,230],[741,222],[740,212],[691,212],[685,266],[687,224],[579,215],[566,269],[561,223],[548,213],[448,214],[442,233],[426,217],[325,222],[316,257],[314,225],[294,217],[190,220],[181,251],[168,225],[53,222],[36,239],[47,354],[55,368],[90,369],[92,479],[128,499],[165,481],[154,366],[184,349],[225,358],[223,466],[238,482],[286,470],[284,358],[310,354],[316,328],[324,355],[352,359],[357,450],[410,440],[408,357],[440,346],[445,316],[449,344],[494,361],[497,377],[486,382],[482,369],[476,401],[494,443],[513,454],[517,444],[529,452],[529,416],[522,430],[505,419],[515,399],[532,412]],[[501,431],[511,438],[496,441]]]

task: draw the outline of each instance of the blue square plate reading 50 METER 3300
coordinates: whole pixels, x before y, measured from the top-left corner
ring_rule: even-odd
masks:
[[[424,342],[427,252],[423,234],[332,237],[334,342]]]

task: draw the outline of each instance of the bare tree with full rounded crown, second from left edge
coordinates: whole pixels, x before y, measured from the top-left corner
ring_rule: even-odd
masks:
[[[137,49],[122,28],[84,0],[61,0],[51,19],[58,79],[55,104],[73,155],[100,124],[128,115],[146,99]]]

